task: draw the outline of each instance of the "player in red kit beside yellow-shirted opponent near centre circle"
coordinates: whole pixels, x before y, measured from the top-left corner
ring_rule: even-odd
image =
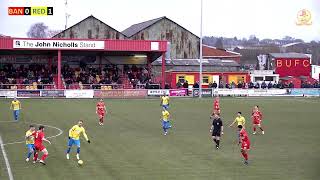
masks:
[[[48,157],[49,153],[47,151],[47,148],[42,143],[43,143],[43,141],[46,141],[49,144],[51,144],[51,142],[44,137],[45,136],[44,135],[44,126],[39,126],[39,130],[34,132],[32,135],[34,136],[34,139],[35,139],[34,145],[35,145],[35,149],[36,149],[36,153],[34,155],[34,162],[37,161],[39,152],[42,152],[43,155],[42,155],[41,160],[39,162],[43,165],[46,165],[46,163],[44,161]]]

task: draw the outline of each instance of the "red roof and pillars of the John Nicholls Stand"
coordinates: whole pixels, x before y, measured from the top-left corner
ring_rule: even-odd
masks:
[[[167,41],[150,40],[98,40],[98,39],[32,39],[0,38],[0,63],[27,64],[45,63],[56,65],[56,84],[63,88],[61,68],[63,63],[78,61],[95,62],[102,67],[105,63],[146,65],[162,56],[161,86],[165,85],[165,53]]]

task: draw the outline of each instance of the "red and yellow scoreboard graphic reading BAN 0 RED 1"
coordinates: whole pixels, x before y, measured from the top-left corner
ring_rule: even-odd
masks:
[[[8,7],[10,16],[52,16],[53,7],[34,6],[34,7]]]

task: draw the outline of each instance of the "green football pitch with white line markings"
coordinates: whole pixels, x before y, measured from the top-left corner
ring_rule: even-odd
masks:
[[[319,98],[221,98],[224,135],[220,150],[211,141],[212,99],[171,99],[173,129],[163,136],[159,99],[105,99],[109,114],[103,127],[96,100],[20,99],[20,121],[13,121],[10,100],[0,103],[0,135],[15,180],[171,180],[320,178]],[[264,115],[265,135],[252,135],[251,109]],[[243,165],[236,129],[228,125],[242,111],[250,132],[249,166]],[[84,120],[91,140],[82,137],[78,166],[75,147],[65,157],[68,130]],[[43,166],[25,162],[24,134],[29,124],[47,125],[49,157]],[[61,134],[61,131],[63,133]],[[61,135],[59,135],[61,134]],[[9,179],[0,153],[0,179]]]

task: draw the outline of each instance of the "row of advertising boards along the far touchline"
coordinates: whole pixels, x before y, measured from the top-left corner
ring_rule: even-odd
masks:
[[[0,90],[2,98],[149,98],[199,97],[199,89],[83,89],[83,90]],[[213,96],[316,96],[320,89],[202,89],[202,97]]]

